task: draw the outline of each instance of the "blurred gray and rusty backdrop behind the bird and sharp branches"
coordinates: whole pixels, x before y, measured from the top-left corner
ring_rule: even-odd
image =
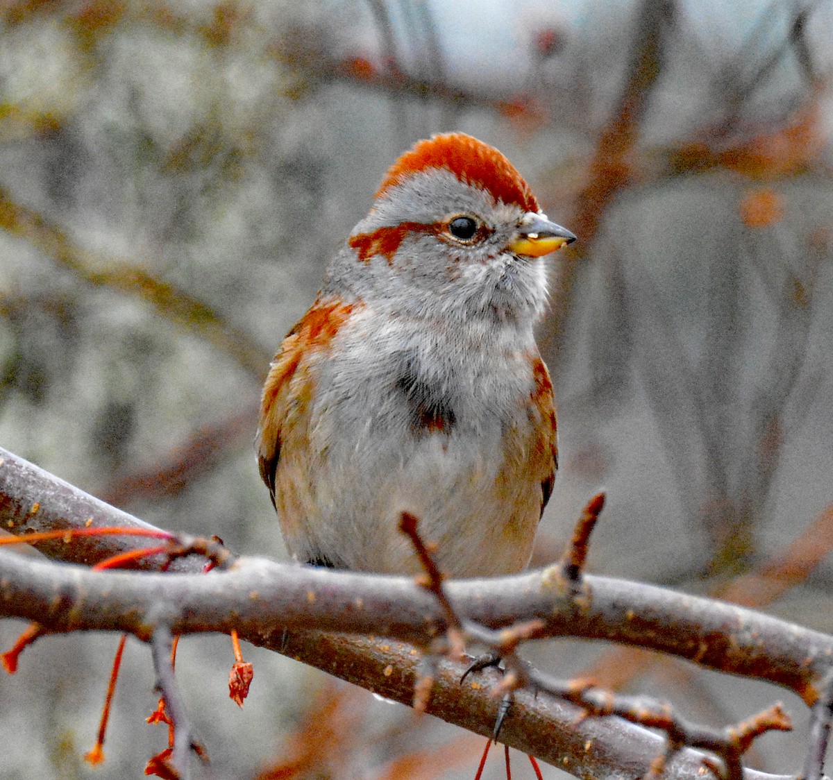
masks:
[[[591,570],[833,631],[831,0],[0,9],[2,446],[154,523],[285,556],[252,451],[268,361],[387,166],[469,132],[579,236],[540,330],[561,470],[534,563],[604,488]],[[3,649],[22,628],[0,624]],[[143,776],[167,735],[144,724],[136,642],[106,762],[82,760],[115,645],[43,638],[0,678],[0,778]],[[474,776],[481,738],[245,653],[240,711],[227,638],[180,645],[217,778]],[[801,766],[806,711],[780,690],[598,644],[526,656],[707,723],[783,699],[797,733],[751,763]]]

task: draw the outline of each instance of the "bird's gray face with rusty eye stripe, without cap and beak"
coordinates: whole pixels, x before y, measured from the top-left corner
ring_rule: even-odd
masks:
[[[324,292],[398,315],[531,322],[546,302],[546,261],[507,249],[524,214],[451,171],[418,172],[374,202]]]

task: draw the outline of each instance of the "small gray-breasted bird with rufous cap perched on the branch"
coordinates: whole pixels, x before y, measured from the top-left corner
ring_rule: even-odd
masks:
[[[534,328],[546,256],[575,240],[475,137],[393,163],[263,387],[257,460],[294,559],[420,574],[407,511],[449,577],[526,567],[558,460]]]

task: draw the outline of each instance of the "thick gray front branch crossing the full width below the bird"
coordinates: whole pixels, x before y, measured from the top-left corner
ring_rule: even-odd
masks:
[[[539,636],[606,639],[661,650],[791,688],[807,703],[833,638],[731,604],[587,576],[580,604],[547,569],[449,582],[457,614],[491,628],[542,619]],[[52,631],[118,630],[147,640],[148,615],[174,633],[229,632],[276,647],[284,628],[366,633],[426,645],[443,630],[436,599],[413,579],[240,558],[202,574],[95,572],[0,553],[0,614]]]

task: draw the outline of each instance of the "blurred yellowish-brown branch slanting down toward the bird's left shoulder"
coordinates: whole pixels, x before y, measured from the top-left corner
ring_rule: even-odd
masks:
[[[22,206],[0,187],[0,228],[28,241],[58,265],[94,286],[147,301],[159,314],[189,332],[201,335],[217,350],[236,360],[261,380],[271,355],[245,331],[238,330],[218,311],[177,287],[125,260],[87,251],[38,211]]]

